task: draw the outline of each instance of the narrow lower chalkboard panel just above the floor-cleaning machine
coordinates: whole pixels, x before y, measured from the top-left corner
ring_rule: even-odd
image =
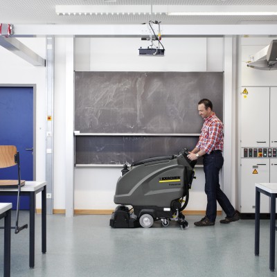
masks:
[[[124,164],[192,150],[198,138],[188,136],[76,136],[75,164]],[[201,159],[198,161],[202,162]]]

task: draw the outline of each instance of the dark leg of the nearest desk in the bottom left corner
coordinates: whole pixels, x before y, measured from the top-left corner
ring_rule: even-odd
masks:
[[[10,276],[10,224],[11,210],[6,211],[4,233],[4,277]]]

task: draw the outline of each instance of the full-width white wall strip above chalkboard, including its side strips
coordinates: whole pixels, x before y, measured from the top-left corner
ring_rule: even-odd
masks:
[[[224,39],[166,38],[165,57],[139,57],[139,38],[75,39],[75,71],[223,71]]]

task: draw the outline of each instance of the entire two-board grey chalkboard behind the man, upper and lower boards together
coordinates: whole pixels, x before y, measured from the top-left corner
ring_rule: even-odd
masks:
[[[202,98],[222,120],[222,72],[75,72],[75,130],[82,134],[75,136],[75,164],[132,163],[192,150],[203,124]]]

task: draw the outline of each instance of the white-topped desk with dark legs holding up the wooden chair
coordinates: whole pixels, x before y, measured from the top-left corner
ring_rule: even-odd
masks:
[[[26,181],[21,195],[30,197],[29,266],[35,267],[35,195],[42,192],[42,253],[46,253],[46,182]],[[17,188],[1,188],[0,195],[17,195]],[[19,216],[20,220],[20,216]]]

